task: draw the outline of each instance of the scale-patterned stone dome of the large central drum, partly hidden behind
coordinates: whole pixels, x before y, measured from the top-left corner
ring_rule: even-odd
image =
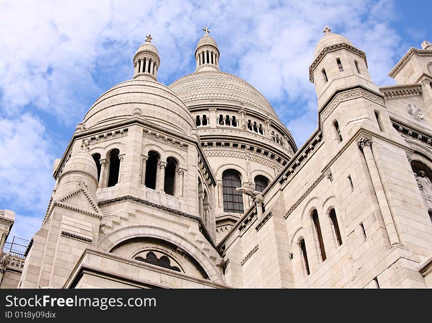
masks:
[[[198,104],[240,103],[256,108],[263,114],[276,117],[266,98],[249,83],[237,76],[218,72],[196,72],[177,80],[169,86],[187,106]]]

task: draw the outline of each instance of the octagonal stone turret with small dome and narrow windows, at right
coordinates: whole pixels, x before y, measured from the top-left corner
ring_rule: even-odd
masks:
[[[378,92],[378,86],[372,83],[369,75],[366,54],[328,27],[323,32],[324,37],[318,42],[314,61],[309,67],[309,78],[317,91],[318,108],[342,88],[362,85]]]

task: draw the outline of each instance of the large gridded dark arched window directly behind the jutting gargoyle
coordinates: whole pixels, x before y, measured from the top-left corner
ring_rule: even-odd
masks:
[[[223,191],[223,211],[233,213],[243,213],[243,195],[236,191],[237,187],[242,187],[242,180],[239,172],[226,170],[222,174]]]

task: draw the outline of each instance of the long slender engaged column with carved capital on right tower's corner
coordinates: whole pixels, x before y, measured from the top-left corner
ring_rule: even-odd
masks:
[[[368,166],[369,173],[371,175],[372,184],[374,185],[375,194],[377,195],[378,205],[381,210],[382,218],[384,220],[387,235],[390,240],[390,244],[400,243],[399,236],[396,232],[395,223],[393,216],[388,206],[387,198],[385,197],[384,188],[382,187],[381,179],[379,178],[377,165],[375,163],[374,155],[372,154],[372,140],[366,137],[362,137],[357,143],[358,147],[363,151]]]

